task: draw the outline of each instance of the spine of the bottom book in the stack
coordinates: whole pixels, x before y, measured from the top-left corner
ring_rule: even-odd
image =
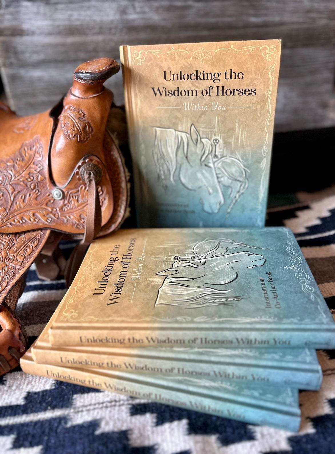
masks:
[[[285,414],[274,410],[242,405],[232,400],[218,400],[211,396],[197,395],[176,390],[155,387],[141,382],[121,380],[96,371],[76,370],[54,365],[36,364],[32,360],[21,358],[21,368],[33,375],[49,377],[78,385],[107,390],[138,399],[153,400],[161,404],[174,405],[187,410],[201,411],[210,415],[221,416],[238,421],[263,424],[296,432],[299,429],[300,417],[297,414]]]

